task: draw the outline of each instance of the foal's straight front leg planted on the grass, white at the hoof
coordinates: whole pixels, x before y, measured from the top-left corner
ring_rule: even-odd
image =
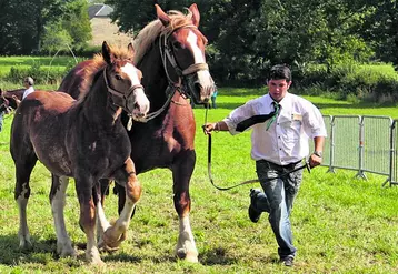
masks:
[[[103,262],[99,255],[96,240],[96,205],[92,196],[97,180],[92,176],[77,176],[74,181],[80,204],[79,223],[87,237],[86,258],[91,264],[102,265]]]

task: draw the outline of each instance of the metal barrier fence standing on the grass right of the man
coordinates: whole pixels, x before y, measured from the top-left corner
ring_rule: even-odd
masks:
[[[386,175],[382,185],[398,184],[398,120],[371,115],[324,115],[328,138],[322,165]],[[312,144],[314,148],[314,144]]]

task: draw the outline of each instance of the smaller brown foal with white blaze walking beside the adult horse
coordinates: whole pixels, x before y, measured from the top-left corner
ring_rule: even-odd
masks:
[[[125,110],[140,119],[149,111],[149,101],[140,83],[142,74],[132,64],[131,44],[128,50],[123,53],[103,42],[102,54],[98,54],[92,65],[86,69],[87,79],[79,100],[63,92],[39,90],[22,100],[17,109],[10,151],[16,164],[14,199],[19,205],[21,247],[31,244],[27,203],[29,179],[37,160],[52,173],[50,203],[57,251],[61,256],[74,256],[76,253],[63,219],[67,184],[59,176],[74,177],[80,203],[79,223],[87,235],[88,262],[102,264],[94,236],[96,213],[102,225],[105,245],[118,245],[123,237],[141,186],[130,158],[131,142],[120,114]],[[102,220],[103,210],[100,197],[96,195],[102,177],[115,179],[127,190],[123,211],[112,226]]]

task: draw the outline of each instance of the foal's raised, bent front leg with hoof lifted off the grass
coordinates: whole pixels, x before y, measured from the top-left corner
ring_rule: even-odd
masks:
[[[111,248],[119,246],[125,241],[131,214],[141,196],[141,184],[137,179],[136,168],[130,158],[126,160],[125,169],[115,174],[115,179],[118,183],[126,182],[126,203],[119,219],[103,234],[105,243]]]

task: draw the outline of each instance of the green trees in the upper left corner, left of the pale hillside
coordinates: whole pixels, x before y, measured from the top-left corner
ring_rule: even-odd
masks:
[[[0,54],[42,54],[87,47],[87,0],[1,0]]]

